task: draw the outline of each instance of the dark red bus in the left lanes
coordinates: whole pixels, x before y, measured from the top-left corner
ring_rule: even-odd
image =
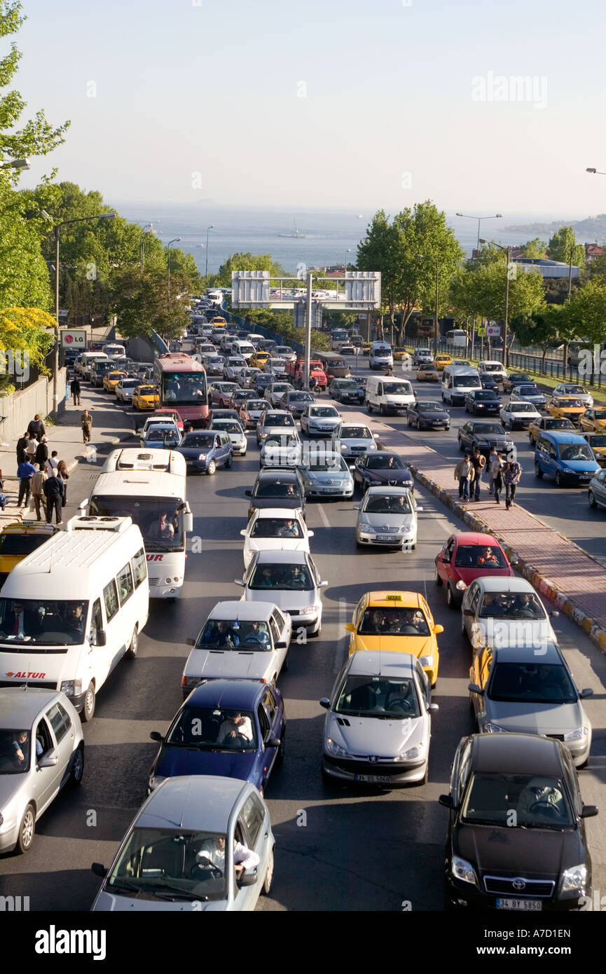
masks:
[[[207,373],[201,362],[184,352],[158,356],[154,362],[154,385],[161,407],[178,409],[183,422],[196,429],[207,425]]]

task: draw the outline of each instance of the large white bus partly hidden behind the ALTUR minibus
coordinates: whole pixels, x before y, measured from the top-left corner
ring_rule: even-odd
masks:
[[[114,450],[80,505],[96,516],[133,519],[145,545],[150,598],[174,601],[181,594],[194,520],[186,474],[185,458],[173,450]]]

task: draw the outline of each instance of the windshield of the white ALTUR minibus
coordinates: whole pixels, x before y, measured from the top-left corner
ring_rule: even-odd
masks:
[[[0,598],[0,641],[21,646],[81,646],[89,603],[65,599]],[[25,667],[24,667],[25,668]]]

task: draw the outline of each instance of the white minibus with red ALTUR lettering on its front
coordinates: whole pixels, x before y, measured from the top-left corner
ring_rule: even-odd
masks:
[[[16,565],[0,596],[2,687],[65,693],[83,721],[122,656],[136,656],[149,587],[130,517],[72,517]]]

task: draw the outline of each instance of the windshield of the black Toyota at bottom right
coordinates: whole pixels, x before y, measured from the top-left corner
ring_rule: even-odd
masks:
[[[562,782],[542,774],[476,772],[461,814],[464,822],[518,829],[561,829],[574,824]]]

